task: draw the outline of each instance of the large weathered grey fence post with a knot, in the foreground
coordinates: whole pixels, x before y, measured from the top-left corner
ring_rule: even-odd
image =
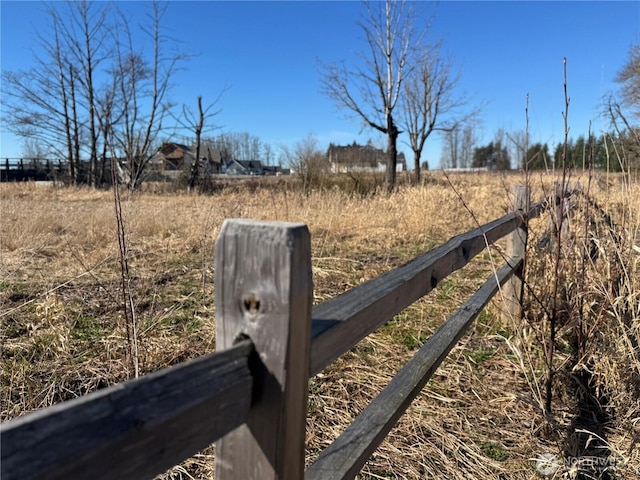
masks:
[[[304,477],[311,241],[303,224],[226,220],[216,243],[216,349],[252,340],[253,404],[216,443],[216,480]]]

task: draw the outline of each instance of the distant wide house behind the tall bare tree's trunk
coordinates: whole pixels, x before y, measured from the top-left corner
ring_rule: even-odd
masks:
[[[332,173],[346,172],[385,172],[387,169],[387,154],[384,150],[374,147],[371,142],[367,145],[329,145],[327,151]],[[404,172],[407,161],[404,153],[398,152],[396,171]]]

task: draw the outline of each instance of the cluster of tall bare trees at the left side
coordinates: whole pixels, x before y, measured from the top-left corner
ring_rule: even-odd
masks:
[[[66,159],[73,182],[103,181],[111,150],[107,142],[113,142],[118,158],[124,158],[118,164],[120,178],[136,188],[170,107],[170,80],[186,56],[167,53],[160,29],[164,9],[156,3],[145,30],[153,41],[150,57],[134,45],[124,14],[119,24],[109,24],[110,4],[83,0],[68,2],[65,12],[61,8],[49,8],[51,28],[39,34],[43,53],[35,65],[2,72],[6,124]],[[98,69],[109,60],[113,67],[105,72],[105,84],[98,85]],[[88,158],[88,168],[81,156]]]

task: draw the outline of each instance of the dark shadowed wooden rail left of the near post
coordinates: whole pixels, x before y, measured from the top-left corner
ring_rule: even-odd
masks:
[[[1,477],[153,478],[247,420],[251,342],[0,426]]]

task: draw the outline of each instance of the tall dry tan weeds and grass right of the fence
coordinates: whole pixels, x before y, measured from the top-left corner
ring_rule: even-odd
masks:
[[[542,389],[557,281],[553,410],[543,417],[540,436],[564,458],[558,475],[636,477],[640,190],[621,175],[607,183],[590,172],[570,173],[581,193],[570,200],[557,277],[549,224],[541,219],[530,225],[526,322],[518,340],[530,359],[531,382]],[[545,190],[553,191],[551,185]],[[534,397],[540,411],[544,394]]]

